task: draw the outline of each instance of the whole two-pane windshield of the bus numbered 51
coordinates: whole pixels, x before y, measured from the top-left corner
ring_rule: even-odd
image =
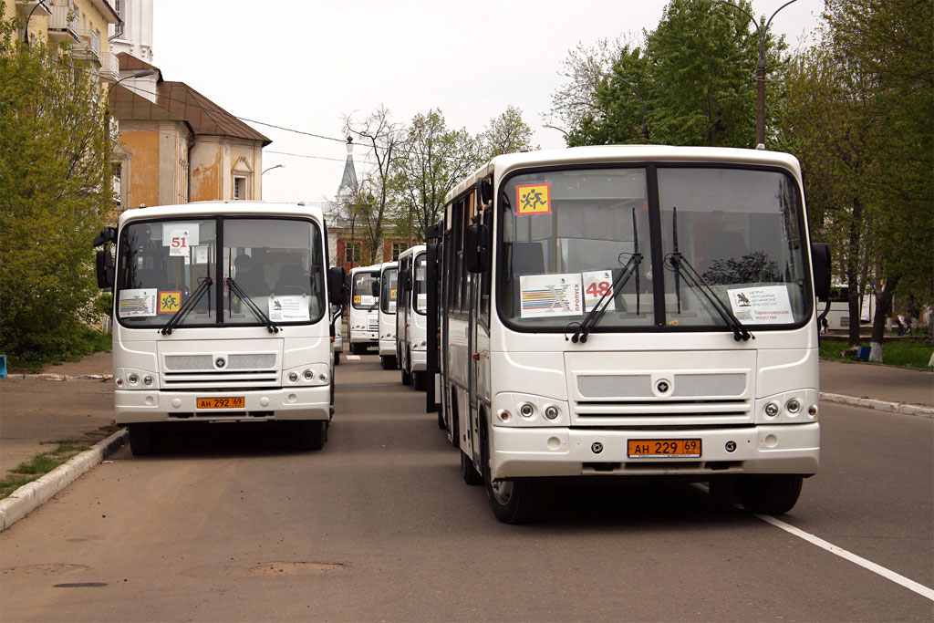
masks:
[[[135,221],[120,233],[117,317],[128,327],[163,327],[185,305],[177,327],[317,322],[323,272],[311,221]]]

